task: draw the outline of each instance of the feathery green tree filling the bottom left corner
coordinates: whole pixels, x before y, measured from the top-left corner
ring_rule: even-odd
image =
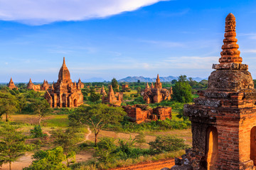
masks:
[[[0,164],[9,163],[11,170],[11,162],[15,162],[26,151],[30,150],[29,145],[25,145],[25,136],[21,131],[17,131],[18,127],[5,123],[0,128]]]

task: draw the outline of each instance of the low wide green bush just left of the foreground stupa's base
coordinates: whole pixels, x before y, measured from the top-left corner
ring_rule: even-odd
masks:
[[[158,136],[153,142],[149,142],[152,153],[173,152],[188,147],[183,139],[174,136]]]

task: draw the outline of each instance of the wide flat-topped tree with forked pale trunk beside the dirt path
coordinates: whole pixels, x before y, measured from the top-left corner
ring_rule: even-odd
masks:
[[[117,124],[122,121],[124,115],[123,108],[115,108],[105,104],[95,104],[92,106],[82,105],[75,109],[75,113],[68,115],[72,125],[89,124],[95,133],[95,146],[97,145],[97,135],[104,125]]]

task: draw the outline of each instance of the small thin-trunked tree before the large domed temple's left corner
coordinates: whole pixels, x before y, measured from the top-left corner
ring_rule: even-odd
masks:
[[[41,119],[48,115],[50,104],[48,103],[48,101],[46,101],[46,99],[36,99],[35,101],[33,101],[31,108],[33,112],[38,115],[38,125],[41,126]]]

